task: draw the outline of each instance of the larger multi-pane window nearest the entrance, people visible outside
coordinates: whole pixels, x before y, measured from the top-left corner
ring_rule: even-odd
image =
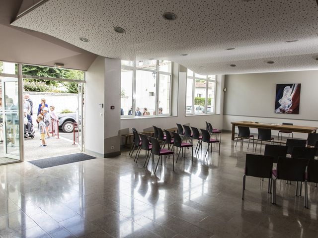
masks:
[[[122,60],[121,116],[170,115],[171,61]]]

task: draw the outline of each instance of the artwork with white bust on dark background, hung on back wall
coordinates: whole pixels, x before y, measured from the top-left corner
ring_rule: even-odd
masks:
[[[300,83],[277,84],[275,113],[299,114]]]

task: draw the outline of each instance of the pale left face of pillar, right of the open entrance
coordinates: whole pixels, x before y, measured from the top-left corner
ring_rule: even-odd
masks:
[[[97,57],[85,72],[85,150],[104,155],[105,58]]]

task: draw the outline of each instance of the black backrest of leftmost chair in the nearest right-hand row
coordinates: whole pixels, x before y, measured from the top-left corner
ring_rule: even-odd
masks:
[[[246,154],[245,175],[257,178],[272,178],[273,156]]]

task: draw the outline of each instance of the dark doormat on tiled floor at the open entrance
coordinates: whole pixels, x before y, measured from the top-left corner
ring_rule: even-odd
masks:
[[[65,165],[65,164],[70,164],[70,163],[84,161],[84,160],[91,160],[91,159],[96,159],[96,157],[86,155],[83,153],[76,153],[71,155],[50,157],[50,158],[45,158],[40,160],[32,160],[29,162],[33,165],[36,165],[37,167],[40,167],[41,169],[44,169],[44,168],[49,168],[53,166]]]

